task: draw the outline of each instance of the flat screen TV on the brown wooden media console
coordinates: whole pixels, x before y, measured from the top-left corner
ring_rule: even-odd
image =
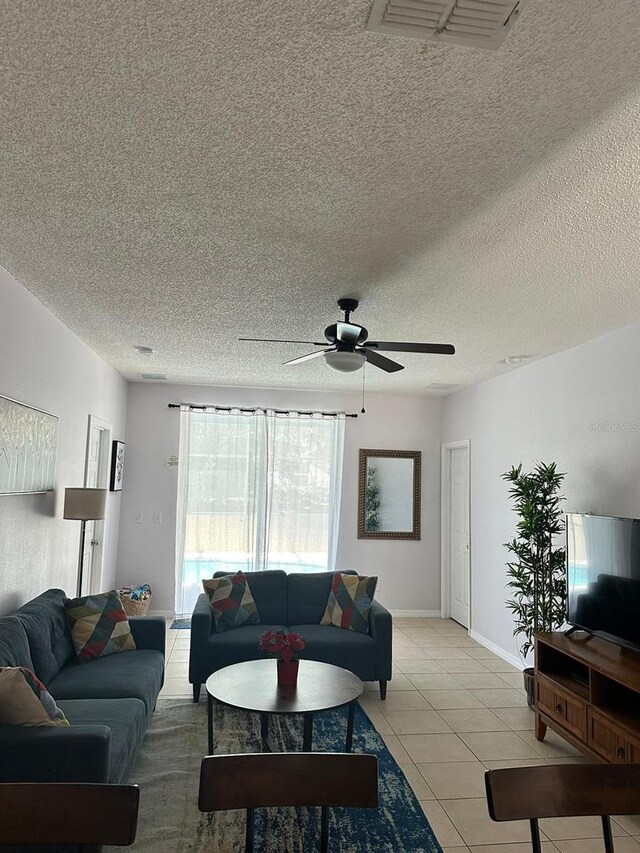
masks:
[[[567,515],[567,622],[640,650],[640,519]]]

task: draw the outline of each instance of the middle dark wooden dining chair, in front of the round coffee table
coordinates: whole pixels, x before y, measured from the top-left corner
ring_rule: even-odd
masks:
[[[202,812],[247,810],[246,853],[253,853],[254,810],[320,806],[320,850],[329,849],[329,808],[376,808],[375,755],[276,752],[208,755],[200,768]]]

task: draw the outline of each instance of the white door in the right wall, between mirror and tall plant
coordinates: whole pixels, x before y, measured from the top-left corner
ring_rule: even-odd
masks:
[[[449,554],[451,570],[450,614],[465,628],[469,627],[471,561],[469,559],[469,448],[449,451],[450,504]]]

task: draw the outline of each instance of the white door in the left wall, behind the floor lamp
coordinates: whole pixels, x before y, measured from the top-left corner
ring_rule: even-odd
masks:
[[[89,416],[87,456],[84,484],[91,489],[108,487],[109,446],[111,427],[93,415]],[[84,551],[82,554],[82,588],[80,595],[100,592],[102,580],[102,557],[104,520],[87,521],[85,524]]]

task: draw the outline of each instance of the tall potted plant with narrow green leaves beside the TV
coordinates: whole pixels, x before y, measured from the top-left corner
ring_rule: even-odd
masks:
[[[515,620],[514,637],[521,637],[523,661],[533,648],[537,631],[555,631],[564,623],[567,597],[565,551],[555,546],[555,537],[564,531],[559,494],[564,474],[555,462],[539,462],[526,473],[522,465],[511,468],[502,478],[511,483],[509,497],[518,514],[517,535],[505,548],[513,555],[507,563],[507,586],[512,598],[506,604]],[[529,706],[533,705],[533,668],[524,671]]]

